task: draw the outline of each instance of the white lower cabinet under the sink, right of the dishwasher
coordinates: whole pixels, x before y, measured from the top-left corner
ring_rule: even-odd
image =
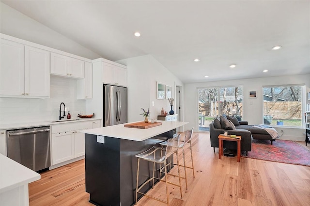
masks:
[[[93,121],[51,125],[52,165],[85,155],[85,139],[81,130],[93,128]]]

